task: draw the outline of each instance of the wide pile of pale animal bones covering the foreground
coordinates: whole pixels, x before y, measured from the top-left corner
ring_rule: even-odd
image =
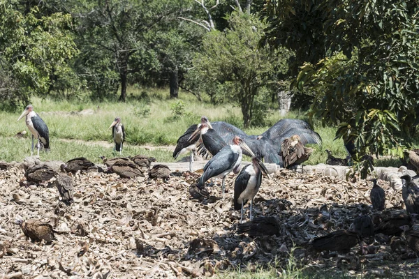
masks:
[[[383,266],[394,266],[393,273],[409,269],[404,260],[416,260],[402,238],[384,235],[344,255],[310,250],[309,241],[348,229],[358,216],[380,220],[401,212],[401,191],[383,181],[378,183],[390,210],[380,215],[370,206],[371,183],[281,170],[274,179],[263,179],[253,209],[256,220],[274,217],[277,233],[254,238],[236,232],[240,211],[232,209],[234,176],[226,179],[226,199],[219,198],[219,186],[207,188],[209,195],[191,197],[199,177],[190,172],[172,172],[167,181],[75,175],[74,202],[68,206],[59,202],[52,183],[24,186],[22,170],[1,170],[0,272],[5,278],[190,278],[239,266],[251,270],[275,260],[285,266],[293,253],[302,265],[374,275],[385,272]],[[26,229],[36,229],[31,219],[41,220],[44,233],[53,233],[48,242],[24,236],[22,221]]]

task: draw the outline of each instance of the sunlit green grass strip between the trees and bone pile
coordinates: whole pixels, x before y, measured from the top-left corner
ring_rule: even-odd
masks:
[[[91,100],[52,100],[50,98],[32,98],[34,110],[43,118],[50,129],[51,151],[42,153],[43,160],[68,160],[76,156],[85,156],[98,160],[98,156],[113,156],[112,147],[106,144],[94,144],[97,141],[112,144],[112,132],[108,130],[115,116],[120,116],[126,127],[124,155],[144,153],[154,156],[159,161],[171,162],[172,152],[168,149],[147,150],[142,145],[175,145],[178,137],[193,123],[205,115],[211,121],[227,121],[241,127],[240,107],[231,104],[210,105],[201,103],[189,93],[180,93],[179,100],[168,98],[163,90],[130,90],[127,103],[93,102]],[[21,110],[14,113],[0,112],[2,129],[0,140],[3,142],[1,160],[22,160],[30,155],[31,140],[27,137],[17,139],[14,135],[27,130],[24,119],[16,122]],[[291,112],[289,118],[304,118],[304,114]],[[248,134],[263,133],[281,117],[272,109],[266,121],[267,126],[244,129]],[[343,142],[333,140],[335,128],[315,126],[323,138],[323,146],[314,146],[308,164],[325,163],[325,149],[330,149],[335,156],[345,157]],[[28,131],[28,130],[27,130]],[[29,131],[28,131],[29,132]],[[66,141],[64,141],[66,140]],[[77,140],[68,142],[68,140]]]

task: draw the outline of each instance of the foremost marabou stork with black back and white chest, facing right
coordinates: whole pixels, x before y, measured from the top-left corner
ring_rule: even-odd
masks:
[[[235,180],[234,209],[240,209],[240,223],[243,222],[243,206],[248,200],[250,201],[249,218],[250,220],[253,219],[251,216],[253,198],[258,193],[260,184],[262,183],[262,172],[267,177],[270,177],[260,158],[253,156],[251,158],[251,164],[246,165]]]

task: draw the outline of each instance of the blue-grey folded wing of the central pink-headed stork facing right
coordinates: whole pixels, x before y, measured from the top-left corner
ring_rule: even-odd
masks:
[[[239,158],[239,154],[233,152],[230,145],[224,147],[212,157],[204,166],[204,174],[201,176],[198,186],[203,186],[208,179],[222,174],[228,169],[234,167],[234,164]]]

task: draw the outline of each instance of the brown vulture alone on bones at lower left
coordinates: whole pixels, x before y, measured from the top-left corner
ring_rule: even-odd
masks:
[[[31,239],[31,241],[42,241],[50,243],[55,239],[54,229],[52,225],[45,223],[38,219],[16,220],[17,225],[20,225],[24,235]]]

